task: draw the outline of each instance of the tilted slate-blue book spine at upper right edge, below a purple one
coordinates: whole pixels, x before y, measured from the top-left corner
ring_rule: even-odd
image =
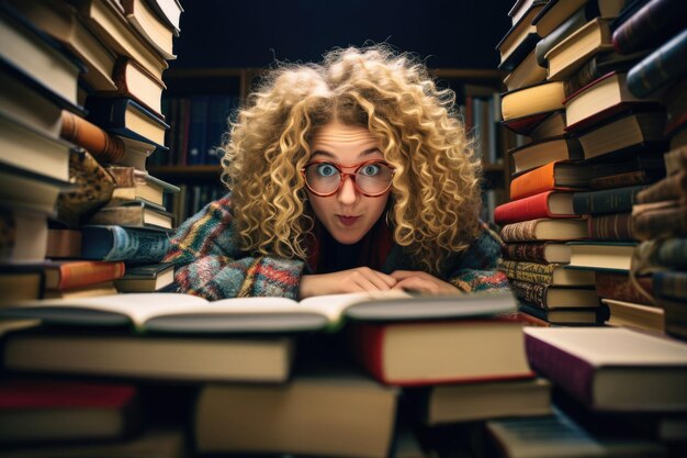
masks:
[[[628,89],[644,98],[685,72],[687,29],[644,57],[628,71]]]

